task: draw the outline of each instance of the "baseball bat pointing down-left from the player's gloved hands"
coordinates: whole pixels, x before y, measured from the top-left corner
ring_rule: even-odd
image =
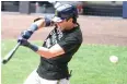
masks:
[[[5,64],[12,58],[12,56],[18,50],[20,45],[21,45],[21,43],[18,43],[16,46],[3,58],[2,64]]]

